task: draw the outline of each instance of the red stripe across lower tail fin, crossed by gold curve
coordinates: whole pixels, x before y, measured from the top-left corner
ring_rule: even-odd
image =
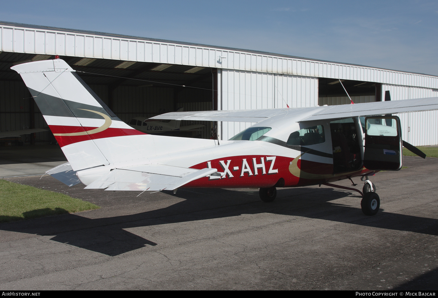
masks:
[[[97,127],[82,127],[82,126],[63,126],[63,125],[49,125],[50,130],[53,134],[64,134],[73,132],[85,132],[95,129]],[[146,135],[144,132],[139,132],[138,130],[132,128],[107,128],[102,132],[93,133],[90,135],[55,135],[60,147],[64,147],[73,143],[83,142],[93,139],[103,139],[110,137],[118,137],[122,135]]]

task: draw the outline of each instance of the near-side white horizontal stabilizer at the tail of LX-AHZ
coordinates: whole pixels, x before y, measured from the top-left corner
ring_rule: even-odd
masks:
[[[85,189],[106,188],[106,191],[162,191],[174,190],[193,180],[217,172],[160,164],[129,166],[114,169],[93,181]]]

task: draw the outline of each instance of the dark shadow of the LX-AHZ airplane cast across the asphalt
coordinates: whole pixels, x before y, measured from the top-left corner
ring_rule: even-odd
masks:
[[[210,190],[209,194],[200,191],[202,190],[181,189],[174,196],[183,198],[184,201],[166,208],[133,215],[90,219],[80,215],[65,214],[4,223],[0,224],[0,229],[54,236],[51,238],[53,241],[109,256],[117,256],[146,245],[157,245],[125,229],[265,212],[438,235],[438,219],[388,213],[382,210],[375,216],[366,216],[362,214],[360,208],[330,202],[350,194],[350,198],[357,198],[357,207],[360,207],[359,196],[331,188],[279,189],[277,199],[272,203],[261,202],[254,191],[215,189]]]

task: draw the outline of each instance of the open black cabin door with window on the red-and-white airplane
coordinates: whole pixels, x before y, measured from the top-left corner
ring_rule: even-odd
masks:
[[[368,170],[402,168],[402,130],[397,116],[365,118],[364,167]]]

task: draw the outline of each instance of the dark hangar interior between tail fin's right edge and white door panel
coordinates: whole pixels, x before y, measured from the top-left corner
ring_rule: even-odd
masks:
[[[136,129],[195,138],[209,138],[215,129],[210,121],[180,121],[174,132],[160,132],[166,130],[168,120],[161,124],[149,122],[154,125],[144,121],[172,111],[217,109],[215,68],[76,57],[67,63],[82,71],[78,74],[85,83],[120,119]]]

